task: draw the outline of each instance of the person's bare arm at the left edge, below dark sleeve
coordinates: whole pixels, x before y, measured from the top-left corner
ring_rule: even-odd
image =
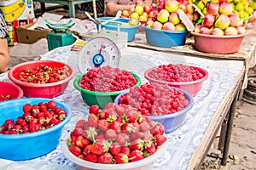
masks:
[[[7,39],[0,38],[0,73],[3,73],[9,68],[9,48]]]

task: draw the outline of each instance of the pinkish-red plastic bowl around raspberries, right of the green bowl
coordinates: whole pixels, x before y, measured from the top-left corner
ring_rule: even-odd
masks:
[[[189,94],[191,94],[193,97],[195,97],[195,95],[201,89],[202,83],[205,80],[207,80],[209,74],[208,74],[208,71],[206,71],[206,70],[204,70],[200,67],[196,67],[196,66],[190,66],[190,67],[194,68],[197,71],[200,71],[204,75],[204,77],[202,77],[199,80],[192,81],[192,82],[165,82],[165,81],[160,81],[160,80],[156,80],[156,79],[149,76],[150,71],[154,71],[154,69],[156,69],[157,66],[153,67],[153,68],[150,68],[147,71],[145,71],[144,77],[146,79],[148,79],[149,82],[157,82],[157,83],[160,83],[160,84],[168,84],[169,86],[174,87],[174,88],[181,88],[184,91],[189,92]]]

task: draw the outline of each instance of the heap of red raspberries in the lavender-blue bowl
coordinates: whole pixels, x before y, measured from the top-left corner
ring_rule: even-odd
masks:
[[[189,99],[183,92],[166,84],[147,82],[131,88],[128,94],[119,98],[119,104],[131,105],[147,116],[169,115],[183,110]]]

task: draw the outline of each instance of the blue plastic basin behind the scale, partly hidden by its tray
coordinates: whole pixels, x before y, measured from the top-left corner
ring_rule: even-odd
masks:
[[[111,20],[113,17],[100,17],[98,20]],[[128,23],[130,19],[125,18],[119,18],[118,22],[124,22]],[[96,24],[98,29],[98,24]],[[141,23],[139,22],[137,26],[120,26],[120,31],[124,31],[128,33],[128,42],[131,42],[134,40],[135,34],[137,33],[137,29],[141,26]],[[102,28],[105,28],[106,30],[112,30],[117,31],[118,25],[113,23],[108,23],[107,25],[102,25]]]

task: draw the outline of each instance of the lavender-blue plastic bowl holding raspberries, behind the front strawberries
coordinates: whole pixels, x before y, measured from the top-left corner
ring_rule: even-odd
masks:
[[[172,88],[172,87],[170,87]],[[163,116],[149,116],[150,120],[154,122],[160,122],[165,127],[165,133],[172,133],[173,131],[177,130],[177,128],[181,127],[183,123],[185,122],[187,113],[191,110],[192,106],[194,105],[194,99],[188,92],[180,89],[180,88],[173,88],[176,90],[179,90],[183,92],[183,94],[186,96],[187,99],[189,99],[189,105],[187,107],[183,108],[182,111],[177,111],[175,113],[172,113],[170,115],[163,115]],[[119,99],[122,95],[125,95],[129,93],[129,91],[119,94],[115,99],[114,103],[116,105],[119,104]]]

